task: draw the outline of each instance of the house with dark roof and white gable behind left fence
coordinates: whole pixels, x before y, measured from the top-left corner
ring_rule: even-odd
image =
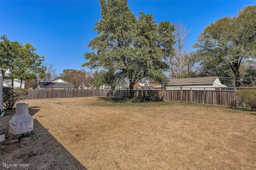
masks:
[[[40,80],[38,82],[38,89],[73,89],[75,86],[72,83],[65,82],[62,79],[58,80]]]

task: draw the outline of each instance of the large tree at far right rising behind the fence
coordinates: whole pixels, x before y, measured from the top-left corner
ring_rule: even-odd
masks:
[[[195,47],[204,67],[215,70],[216,75],[227,72],[228,67],[239,78],[242,62],[256,56],[256,5],[244,7],[237,16],[210,23]]]

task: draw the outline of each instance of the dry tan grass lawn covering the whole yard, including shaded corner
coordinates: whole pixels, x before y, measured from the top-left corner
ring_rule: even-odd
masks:
[[[23,101],[22,101],[23,102]],[[256,169],[256,112],[102,98],[26,100],[34,141],[1,145],[2,162],[29,169]],[[0,118],[8,135],[12,115]]]

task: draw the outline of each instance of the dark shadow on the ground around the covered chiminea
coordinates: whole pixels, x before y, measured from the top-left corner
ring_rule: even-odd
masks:
[[[29,108],[30,115],[34,115],[40,109]],[[8,131],[8,122],[14,114],[6,115],[6,123],[2,131]],[[42,115],[43,116],[43,115]],[[8,135],[6,135],[8,136]],[[10,135],[9,137],[11,137]],[[29,133],[30,136],[30,133]],[[34,118],[33,141],[26,144],[13,143],[5,145],[1,143],[0,164],[28,164],[32,170],[86,170],[72,154],[68,152],[41,123]]]

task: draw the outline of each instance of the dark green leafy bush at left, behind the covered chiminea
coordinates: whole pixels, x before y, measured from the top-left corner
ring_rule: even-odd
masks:
[[[20,87],[4,87],[4,107],[12,109],[16,102],[24,100],[28,91]]]

